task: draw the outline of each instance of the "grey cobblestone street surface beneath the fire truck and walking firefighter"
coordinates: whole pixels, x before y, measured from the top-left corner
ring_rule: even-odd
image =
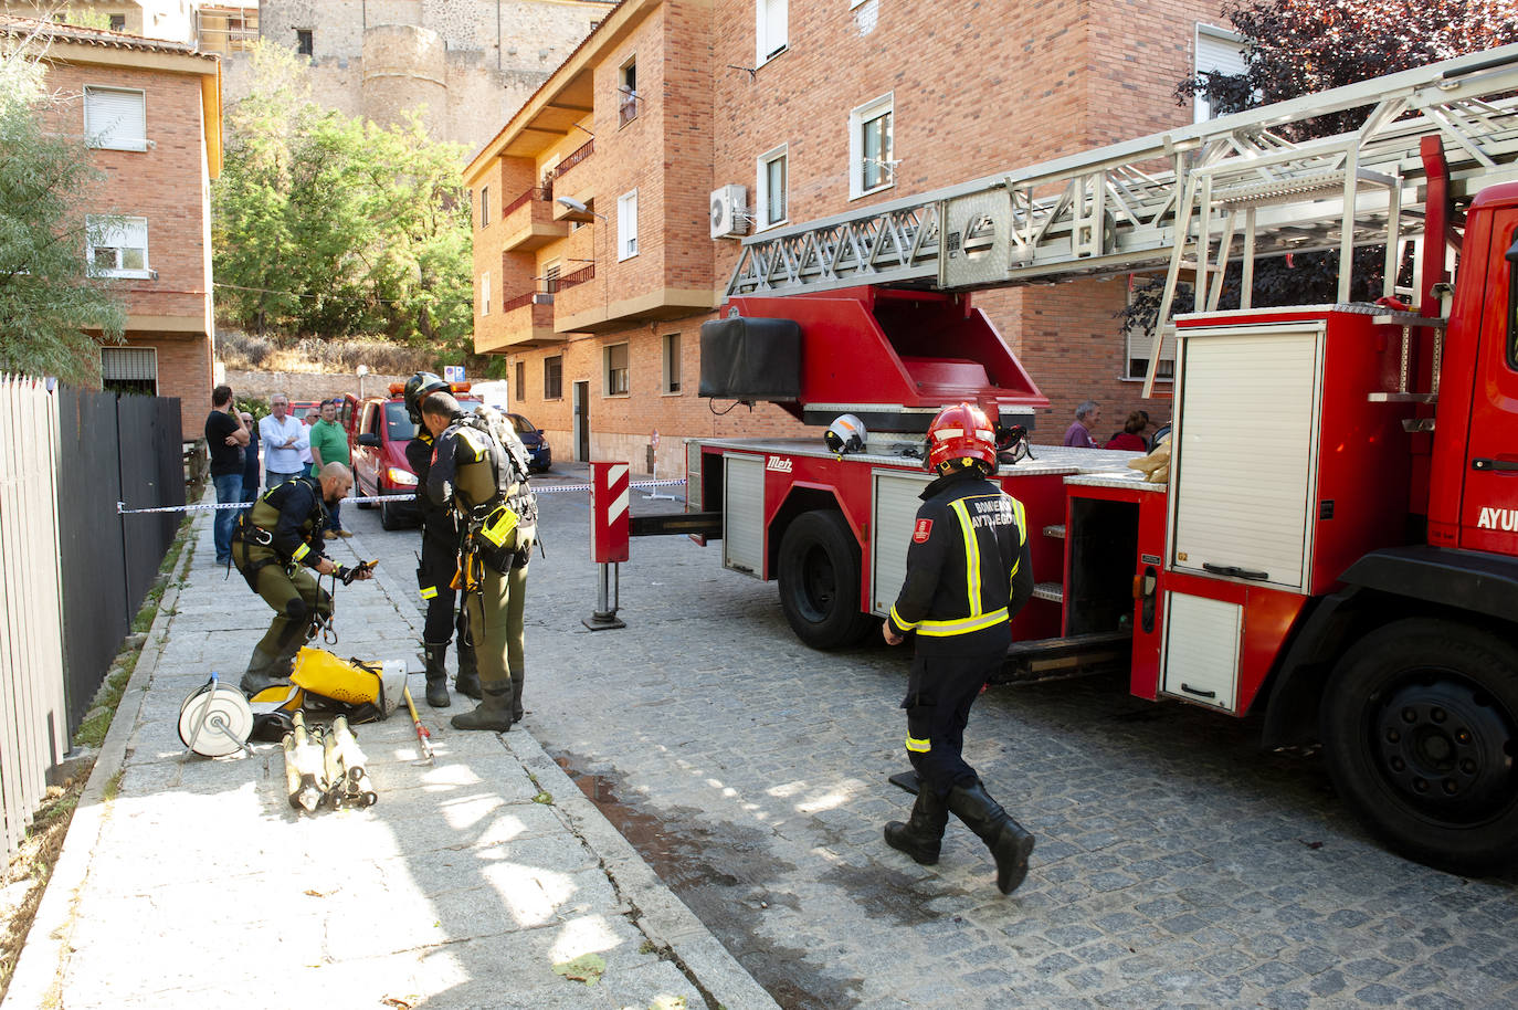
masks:
[[[525,728],[782,1005],[1518,1005],[1518,879],[1390,855],[1316,759],[1116,679],[972,714],[967,758],[1038,835],[1019,892],[958,823],[914,864],[880,840],[909,653],[802,645],[773,583],[686,538],[635,541],[627,629],[587,632],[587,521],[543,495]],[[367,542],[410,565],[414,538]]]

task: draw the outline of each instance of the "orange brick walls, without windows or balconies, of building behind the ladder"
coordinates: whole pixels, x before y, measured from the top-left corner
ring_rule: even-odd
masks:
[[[653,276],[666,287],[726,286],[739,245],[707,237],[707,196],[736,182],[757,213],[757,159],[765,152],[785,146],[788,220],[802,223],[1179,126],[1192,109],[1176,105],[1173,88],[1192,70],[1196,24],[1224,23],[1217,0],[1040,0],[996,11],[950,0],[846,6],[791,3],[788,47],[768,61],[757,59],[754,0],[644,3],[635,21],[609,21],[615,36],[587,39],[594,117],[583,123],[586,131],[568,131],[524,179],[530,185],[545,164],[594,132],[595,155],[568,172],[556,193],[594,204],[607,220],[528,255],[496,246],[480,257],[477,245],[478,264],[504,267],[492,279],[498,302],[527,290],[513,286],[531,284],[553,260],[565,272],[577,266],[569,258],[595,261],[594,281],[556,296],[563,343],[507,348],[513,402],[550,431],[556,456],[580,454],[569,443],[577,381],[589,387],[591,454],[635,466],[656,428],[666,448],[680,436],[820,434],[773,406],[715,416],[697,398],[700,324],[713,311],[692,305],[663,322],[619,319],[616,311]],[[638,122],[619,126],[618,71],[635,53],[644,102]],[[850,111],[882,96],[893,105],[894,184],[852,199]],[[703,137],[704,149],[695,140]],[[472,182],[510,172],[502,167],[510,161],[495,161]],[[615,254],[616,197],[631,185],[639,190],[636,264]],[[1137,407],[1157,424],[1169,418],[1167,399],[1142,401],[1142,383],[1125,378],[1126,349],[1114,316],[1128,282],[1087,279],[975,296],[1050,401],[1037,418],[1037,440],[1058,440],[1087,398],[1104,407],[1102,437]],[[477,324],[492,334],[490,346],[510,342],[509,320]],[[682,348],[677,395],[662,386],[662,337],[671,333],[680,334]],[[628,345],[628,393],[609,396],[606,348],[621,342]],[[543,361],[551,357],[562,360],[562,396],[545,401]],[[518,363],[527,380],[519,399]]]

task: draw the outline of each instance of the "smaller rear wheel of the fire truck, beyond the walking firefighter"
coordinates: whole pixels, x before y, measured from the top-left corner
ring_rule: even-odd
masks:
[[[861,614],[859,544],[838,512],[795,516],[780,541],[780,608],[812,649],[853,645],[874,618]]]

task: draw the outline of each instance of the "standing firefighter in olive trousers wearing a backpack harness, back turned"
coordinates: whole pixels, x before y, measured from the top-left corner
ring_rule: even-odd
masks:
[[[445,392],[422,399],[436,448],[427,494],[461,527],[458,583],[480,671],[480,705],[449,720],[455,729],[502,732],[522,718],[527,562],[537,500],[527,488],[527,450],[510,427],[492,431]]]

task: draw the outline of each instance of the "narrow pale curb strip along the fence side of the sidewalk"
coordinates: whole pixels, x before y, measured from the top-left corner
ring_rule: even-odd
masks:
[[[79,806],[68,825],[64,849],[47,879],[47,890],[36,908],[36,917],[32,919],[32,928],[26,934],[26,943],[17,958],[15,974],[11,977],[11,987],[3,1001],[6,1007],[20,1010],[21,1007],[62,1005],[58,980],[62,977],[64,963],[73,954],[70,936],[73,934],[74,904],[90,878],[90,858],[100,840],[105,819],[109,816],[109,805],[105,799],[106,784],[126,765],[126,747],[137,731],[143,702],[147,699],[147,685],[158,668],[164,639],[168,636],[168,624],[173,621],[175,608],[179,603],[179,583],[194,556],[194,539],[200,527],[211,521],[211,512],[203,512],[190,526],[190,536],[179,551],[179,562],[168,577],[168,586],[158,603],[153,626],[147,629],[147,641],[143,642],[143,652],[132,668],[132,677],[121,693],[121,702],[111,718],[111,729],[106,731],[105,741],[100,744],[100,756],[96,758],[90,781],[85,782],[85,791],[79,796]]]

